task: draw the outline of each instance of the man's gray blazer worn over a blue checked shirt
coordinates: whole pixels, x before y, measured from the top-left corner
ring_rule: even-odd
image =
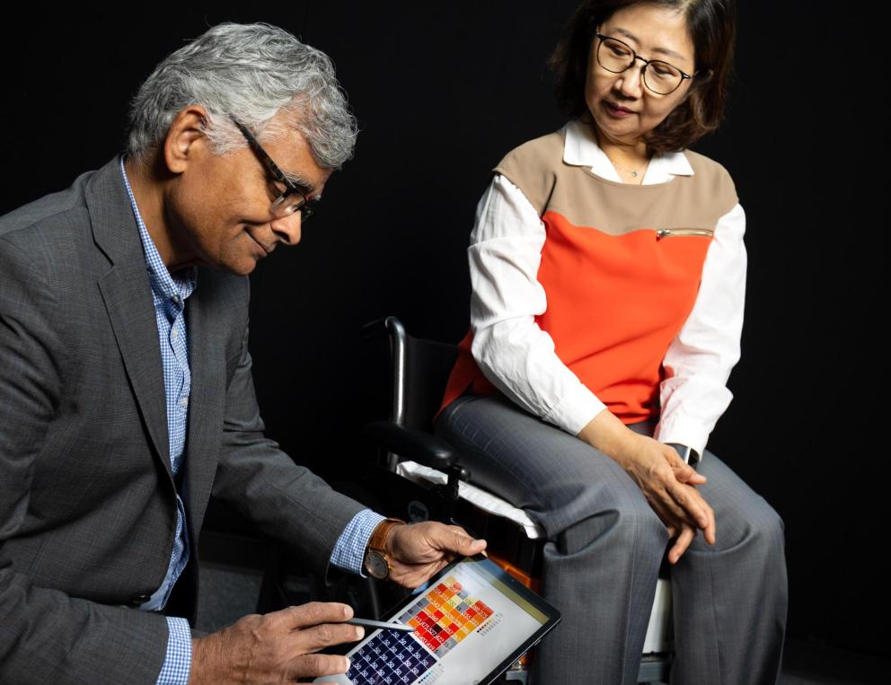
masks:
[[[176,523],[151,286],[119,161],[0,217],[0,682],[151,683]],[[248,279],[200,268],[182,492],[213,493],[326,573],[361,508],[262,435]],[[191,562],[190,562],[191,566]],[[192,604],[194,578],[186,588]]]

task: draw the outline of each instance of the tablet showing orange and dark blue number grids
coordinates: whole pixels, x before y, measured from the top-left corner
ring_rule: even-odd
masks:
[[[485,685],[556,626],[560,612],[478,555],[446,566],[386,620],[415,632],[375,630],[347,653],[348,672],[315,682]]]

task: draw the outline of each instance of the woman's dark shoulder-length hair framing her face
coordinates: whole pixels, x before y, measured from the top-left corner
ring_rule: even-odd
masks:
[[[648,154],[679,152],[715,130],[724,117],[737,39],[735,0],[583,0],[548,61],[557,75],[557,100],[570,117],[587,114],[585,78],[595,28],[639,3],[683,12],[696,51],[698,75],[689,96],[645,136]]]

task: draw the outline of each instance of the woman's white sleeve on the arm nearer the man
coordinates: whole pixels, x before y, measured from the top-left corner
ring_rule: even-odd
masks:
[[[477,206],[468,249],[471,352],[482,373],[520,407],[572,435],[605,405],[554,352],[535,316],[547,308],[538,282],[544,224],[500,174]]]

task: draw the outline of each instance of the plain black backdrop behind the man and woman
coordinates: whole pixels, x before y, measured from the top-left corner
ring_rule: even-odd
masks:
[[[0,213],[119,152],[138,84],[209,25],[276,23],[331,55],[357,156],[301,245],[252,275],[251,350],[269,435],[342,476],[368,455],[357,429],[383,391],[358,330],[395,314],[463,336],[473,210],[503,154],[563,123],[544,60],[574,3],[262,5],[7,22]],[[727,120],[693,148],[736,181],[749,252],[735,400],[710,449],[785,522],[789,635],[884,654],[887,68],[860,5],[754,5]]]

